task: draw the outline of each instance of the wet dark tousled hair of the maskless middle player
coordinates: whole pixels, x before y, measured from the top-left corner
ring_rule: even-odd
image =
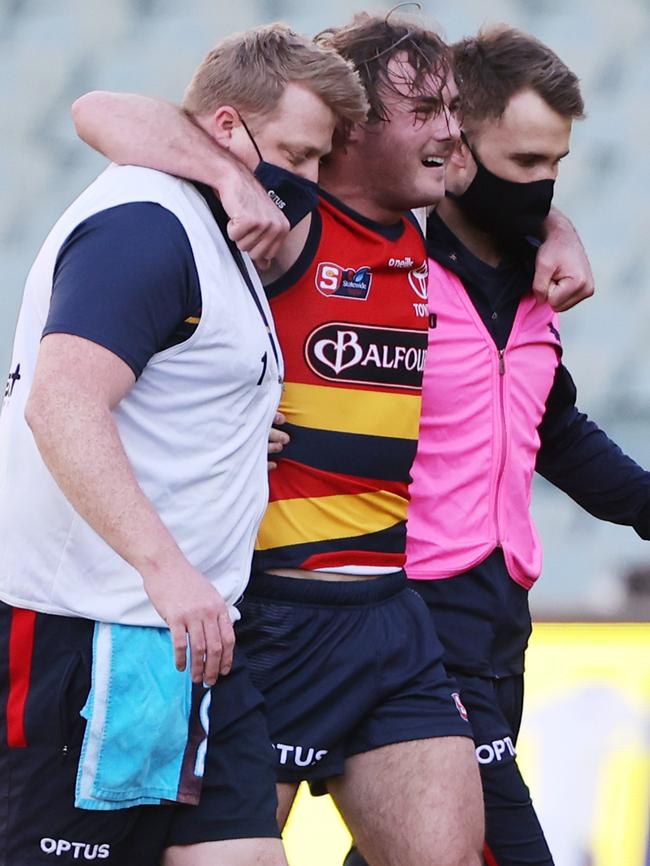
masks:
[[[442,108],[442,90],[452,65],[451,51],[435,31],[392,13],[382,17],[362,12],[350,24],[323,30],[316,36],[316,42],[333,48],[359,73],[370,103],[369,123],[390,119],[384,99],[389,93],[404,96],[398,83],[406,83],[416,98],[426,92],[425,82],[432,73],[439,87],[437,92],[427,95],[437,96]],[[408,80],[405,77],[396,81],[394,68],[389,75],[388,66],[394,57],[403,58],[412,68],[414,74]]]

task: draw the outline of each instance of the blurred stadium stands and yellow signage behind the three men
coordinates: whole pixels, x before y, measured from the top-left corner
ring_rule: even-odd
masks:
[[[390,5],[0,0],[0,377],[30,262],[104,164],[74,136],[75,97],[106,88],[178,100],[194,67],[227,33],[277,19],[314,33],[354,9]],[[490,22],[528,30],[582,80],[588,117],[575,126],[556,203],[580,231],[597,296],[562,317],[565,359],[581,408],[650,466],[648,0],[422,6],[452,40]],[[546,555],[531,602],[546,622],[529,659],[522,761],[558,866],[650,866],[650,548],[541,481],[535,515]],[[591,624],[566,624],[574,620]],[[596,624],[630,620],[639,624]],[[336,863],[332,846],[345,844],[341,832],[336,824],[319,828],[313,815],[296,822],[292,866]]]

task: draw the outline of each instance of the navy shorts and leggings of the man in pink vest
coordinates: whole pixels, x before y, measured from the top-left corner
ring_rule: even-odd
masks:
[[[553,866],[516,760],[531,630],[528,592],[509,576],[499,548],[465,574],[409,585],[429,608],[469,714],[485,800],[486,863]]]

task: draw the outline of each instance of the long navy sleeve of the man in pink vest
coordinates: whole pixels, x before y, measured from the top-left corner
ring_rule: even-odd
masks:
[[[576,387],[560,364],[539,427],[537,471],[590,514],[632,526],[650,540],[650,472],[576,406]]]

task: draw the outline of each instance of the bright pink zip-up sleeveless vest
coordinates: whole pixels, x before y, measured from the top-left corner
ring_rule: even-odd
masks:
[[[429,310],[408,577],[461,574],[501,547],[508,573],[529,589],[542,564],[530,500],[562,352],[557,316],[526,295],[499,350],[460,279],[433,259]]]

